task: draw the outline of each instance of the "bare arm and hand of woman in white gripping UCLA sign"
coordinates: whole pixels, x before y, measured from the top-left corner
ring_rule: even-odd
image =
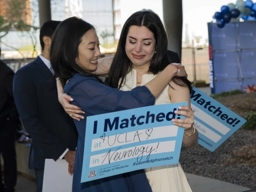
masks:
[[[193,123],[194,123],[194,113],[190,107],[190,92],[188,87],[181,87],[175,84],[174,82],[170,82],[170,85],[173,87],[169,87],[168,94],[170,96],[172,103],[180,103],[180,102],[187,102],[187,106],[181,106],[177,113],[181,114],[186,117],[186,119],[173,119],[175,125],[185,128],[184,133],[189,134],[193,131]],[[189,113],[190,112],[190,113]],[[183,136],[183,143],[186,146],[192,147],[197,143],[198,139],[198,132],[195,129],[195,133],[191,136]]]

